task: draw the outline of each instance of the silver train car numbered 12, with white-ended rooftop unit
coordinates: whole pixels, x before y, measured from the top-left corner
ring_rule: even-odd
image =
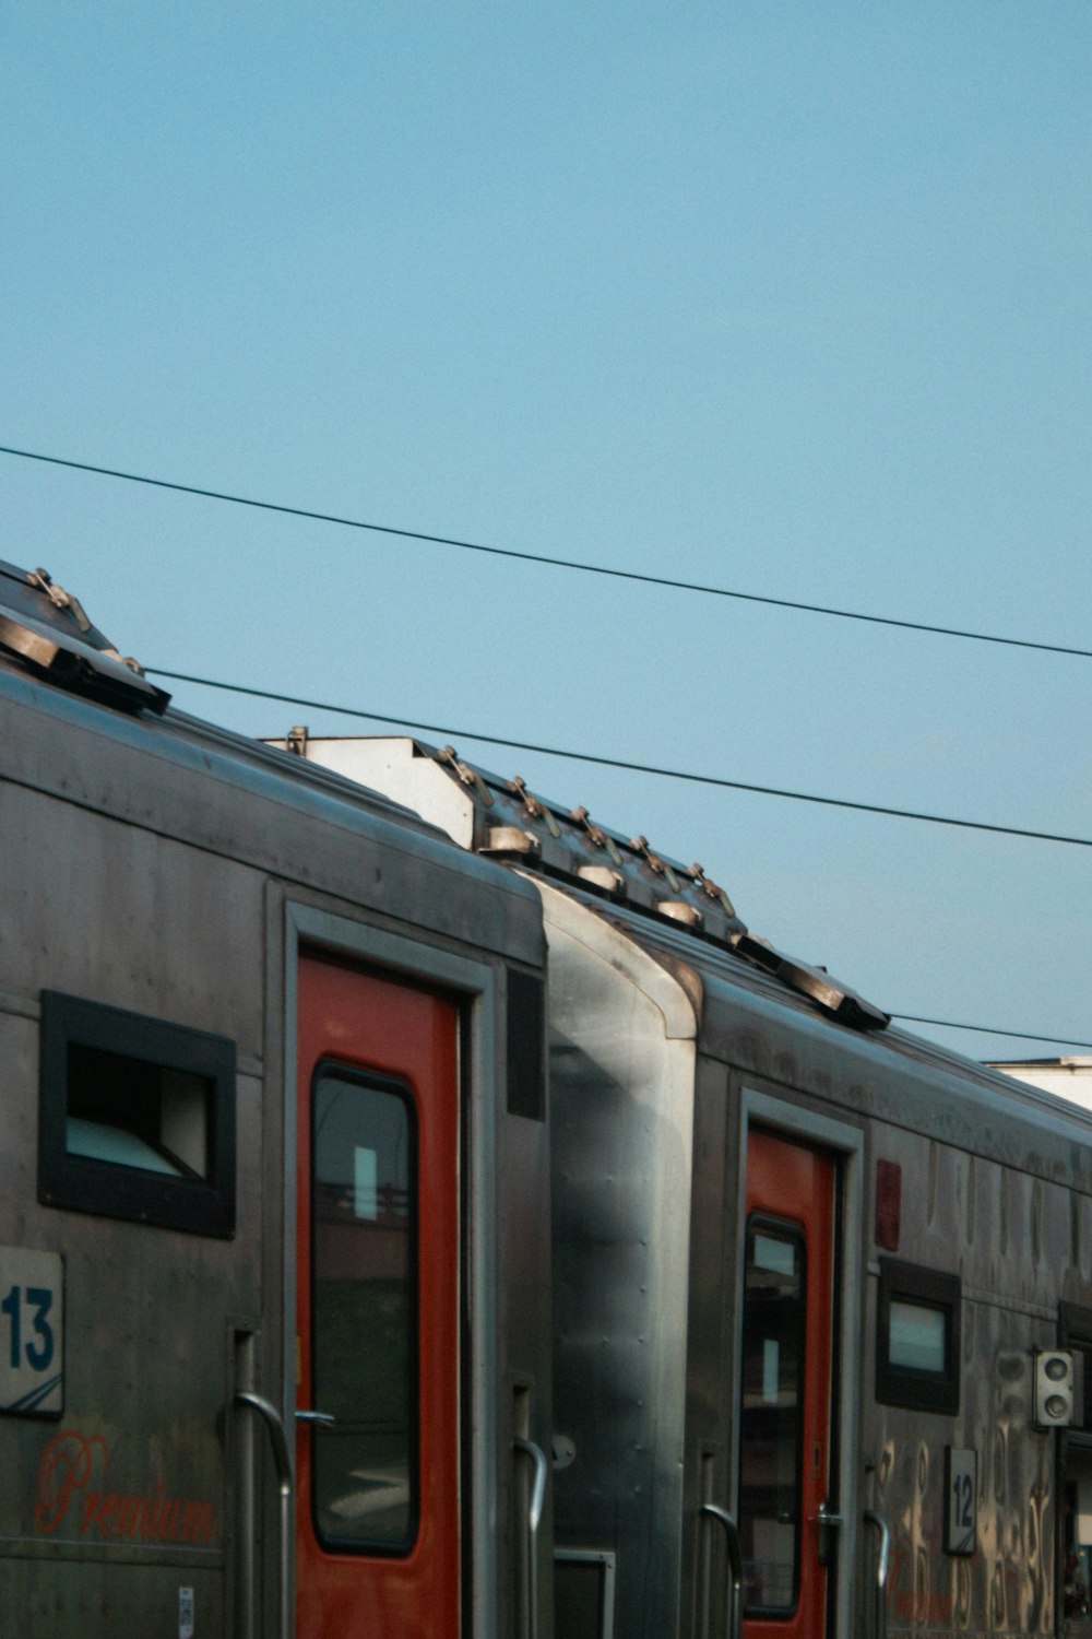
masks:
[[[1087,1113],[450,747],[280,744],[542,898],[552,1631],[1092,1632]]]

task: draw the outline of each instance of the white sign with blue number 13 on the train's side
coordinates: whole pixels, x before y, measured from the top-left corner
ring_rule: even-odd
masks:
[[[64,1264],[0,1246],[0,1414],[64,1411]]]

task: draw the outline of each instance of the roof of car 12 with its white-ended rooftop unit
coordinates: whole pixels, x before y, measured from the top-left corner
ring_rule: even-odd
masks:
[[[645,838],[624,838],[409,738],[309,738],[280,744],[357,772],[417,806],[463,847],[509,860],[675,975],[702,1052],[863,1115],[923,1131],[972,1154],[1092,1193],[1092,1118],[897,1029],[891,1015],[825,969],[748,931],[724,888]],[[553,893],[550,890],[555,890]],[[550,915],[550,913],[548,913]],[[553,916],[565,916],[553,910]]]

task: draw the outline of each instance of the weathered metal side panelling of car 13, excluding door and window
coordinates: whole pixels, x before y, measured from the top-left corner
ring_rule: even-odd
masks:
[[[287,901],[396,931],[408,947],[463,952],[483,970],[491,964],[494,1037],[475,1037],[465,1088],[467,1159],[476,1200],[488,1201],[468,1214],[468,1377],[478,1408],[483,1382],[494,1398],[503,1388],[511,1398],[514,1378],[535,1385],[539,1431],[548,1418],[539,1347],[548,1251],[542,1234],[537,1247],[532,1237],[544,1218],[547,1129],[517,1116],[493,1126],[504,1108],[499,959],[540,972],[539,898],[300,759],[174,713],[144,721],[88,703],[11,662],[0,662],[0,1244],[61,1254],[65,1290],[64,1414],[0,1418],[0,1632],[182,1634],[192,1591],[195,1636],[224,1636],[237,1631],[239,1587],[250,1578],[254,1631],[272,1634],[280,1613],[270,1467],[260,1444],[232,1431],[231,1406],[239,1387],[278,1405],[291,1393],[291,1369],[282,1372],[291,1359],[282,1310],[291,1246],[283,1075],[295,1054]],[[232,1239],[39,1201],[43,988],[236,1042]],[[511,1347],[498,1336],[501,1319]],[[241,1337],[254,1339],[249,1352]],[[503,1619],[511,1564],[503,1588],[485,1582],[498,1575],[498,1511],[512,1491],[512,1423],[509,1408],[494,1446],[473,1452],[490,1465],[475,1519],[493,1532],[488,1547],[475,1544],[473,1596]],[[254,1528],[246,1544],[239,1519]]]

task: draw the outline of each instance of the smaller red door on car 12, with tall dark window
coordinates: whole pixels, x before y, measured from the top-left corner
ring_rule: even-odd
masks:
[[[824,1639],[830,1483],[828,1155],[751,1131],[747,1144],[738,1524],[745,1639]]]

